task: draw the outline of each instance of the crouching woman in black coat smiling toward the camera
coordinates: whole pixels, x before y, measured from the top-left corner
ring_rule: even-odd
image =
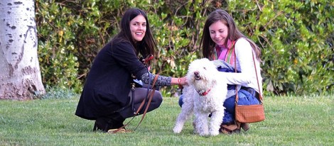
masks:
[[[127,10],[120,27],[120,32],[95,57],[75,112],[81,118],[95,120],[93,130],[112,132],[121,128],[126,118],[135,116],[134,109],[139,108],[148,93],[144,86],[131,90],[134,77],[150,85],[156,76],[149,72],[148,60],[146,65],[139,60],[139,56],[154,55],[156,47],[146,13],[141,9]],[[158,76],[155,85],[184,84],[184,77]],[[161,102],[161,93],[155,91],[148,111],[158,108]]]

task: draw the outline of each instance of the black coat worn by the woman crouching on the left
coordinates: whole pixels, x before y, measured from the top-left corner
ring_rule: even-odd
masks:
[[[108,43],[95,57],[75,115],[95,120],[122,108],[129,101],[131,74],[141,77],[146,72],[131,43]]]

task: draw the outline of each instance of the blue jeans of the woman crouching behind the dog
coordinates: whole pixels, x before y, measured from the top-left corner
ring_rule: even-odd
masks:
[[[238,91],[238,105],[253,105],[259,104],[259,100],[250,94],[248,91],[244,89],[240,89]],[[178,99],[178,104],[182,107],[183,104],[183,95]],[[225,112],[224,118],[222,118],[222,123],[231,123],[235,120],[235,95],[226,99],[224,102]]]

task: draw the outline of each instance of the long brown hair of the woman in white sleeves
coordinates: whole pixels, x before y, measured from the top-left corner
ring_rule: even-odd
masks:
[[[211,55],[214,53],[215,49],[215,42],[210,38],[210,31],[209,27],[212,23],[215,23],[217,21],[221,21],[224,23],[228,28],[228,35],[227,38],[230,40],[237,40],[239,38],[245,38],[250,45],[252,45],[252,48],[257,56],[257,60],[261,60],[261,49],[249,38],[247,38],[245,35],[243,35],[237,26],[235,25],[235,21],[233,18],[227,13],[226,11],[222,9],[217,9],[215,11],[212,11],[212,13],[209,14],[207,20],[205,21],[204,28],[203,28],[203,35],[200,39],[200,47],[202,47],[203,50],[203,57],[210,58]],[[225,40],[225,45],[227,44],[227,39]]]

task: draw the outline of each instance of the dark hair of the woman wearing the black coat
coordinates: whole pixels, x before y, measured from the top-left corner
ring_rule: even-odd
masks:
[[[131,35],[130,21],[139,15],[144,16],[146,20],[146,33],[144,35],[143,40],[136,42]],[[119,26],[120,26],[120,31],[112,39],[113,42],[120,42],[120,41],[130,42],[134,46],[134,51],[136,52],[137,56],[139,55],[139,53],[144,57],[148,55],[154,55],[156,42],[153,40],[153,35],[149,27],[150,26],[149,20],[147,19],[146,13],[144,11],[137,8],[128,9],[122,16],[122,20]]]

